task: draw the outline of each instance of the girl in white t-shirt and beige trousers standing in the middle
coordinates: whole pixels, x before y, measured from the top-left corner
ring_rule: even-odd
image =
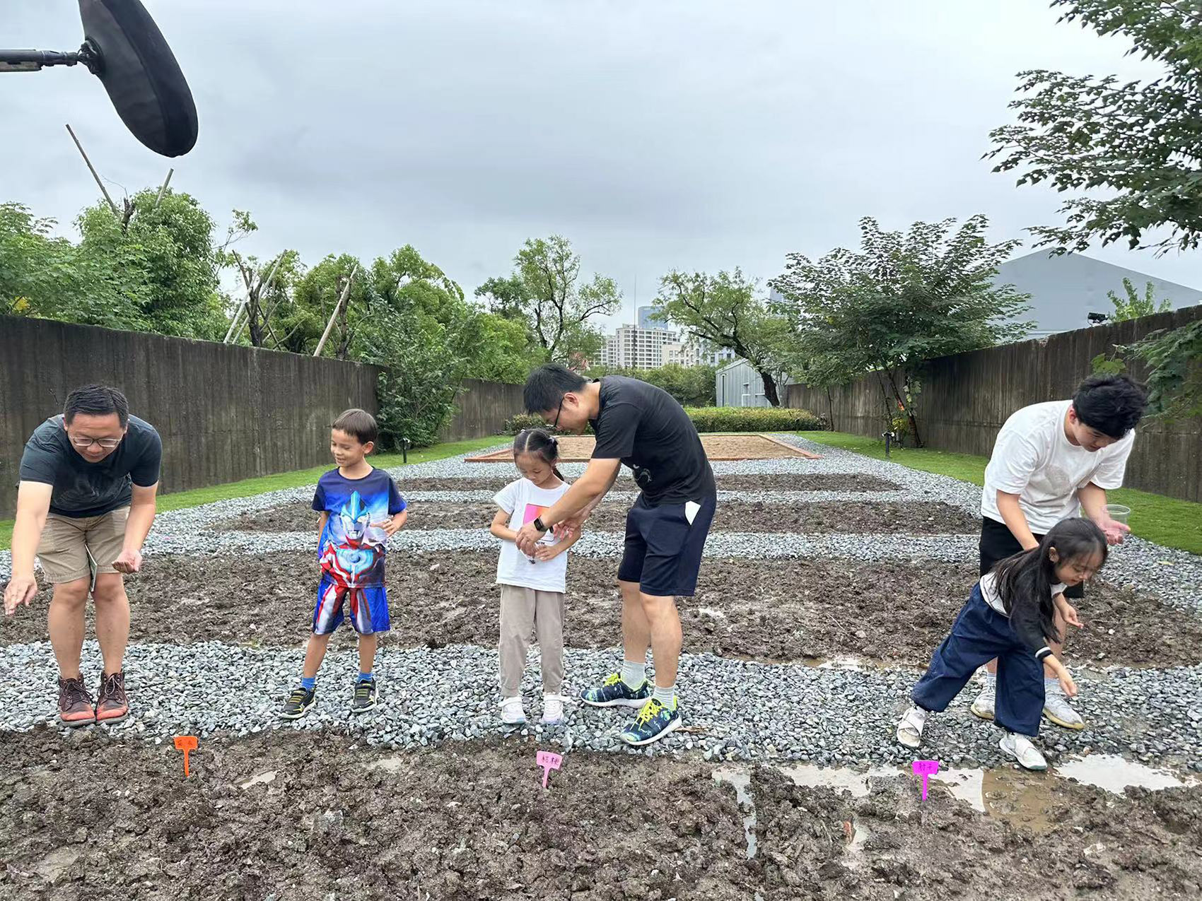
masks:
[[[526,429],[513,440],[513,461],[522,478],[496,493],[500,509],[489,531],[501,539],[496,584],[501,586],[500,681],[501,721],[525,722],[522,672],[531,629],[542,657],[542,722],[564,718],[564,591],[567,549],[579,533],[558,539],[554,531],[538,542],[532,557],[514,544],[518,530],[532,523],[567,491],[555,467],[559,442],[542,429]]]

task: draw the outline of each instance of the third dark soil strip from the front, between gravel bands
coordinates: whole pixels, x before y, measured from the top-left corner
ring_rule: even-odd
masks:
[[[629,501],[606,501],[589,517],[588,529],[626,529]],[[493,503],[413,501],[405,529],[487,529],[496,514]],[[212,529],[245,532],[305,532],[317,514],[303,501],[243,513]],[[981,518],[950,503],[894,501],[823,501],[820,503],[737,503],[722,501],[714,514],[716,532],[904,532],[909,535],[975,535]]]

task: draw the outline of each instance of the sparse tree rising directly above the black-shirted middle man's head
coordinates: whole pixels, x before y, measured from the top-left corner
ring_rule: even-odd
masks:
[[[559,234],[530,238],[513,257],[514,270],[477,288],[489,308],[510,318],[522,315],[549,360],[566,362],[596,354],[605,342],[589,323],[612,314],[621,302],[613,279],[594,274],[581,284],[581,257]]]

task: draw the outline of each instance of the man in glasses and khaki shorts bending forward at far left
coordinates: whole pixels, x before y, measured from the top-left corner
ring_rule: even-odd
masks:
[[[154,426],[130,416],[125,395],[102,384],[71,392],[63,414],[34,430],[20,458],[12,579],[4,607],[12,615],[34,599],[36,555],[54,585],[47,626],[59,663],[59,720],[65,726],[117,722],[129,714],[121,661],[130,603],[123,574],[142,567],[161,458]],[[89,592],[105,658],[95,703],[79,674]]]

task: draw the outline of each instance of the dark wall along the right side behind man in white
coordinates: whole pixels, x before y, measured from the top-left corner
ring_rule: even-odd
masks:
[[[927,447],[988,457],[1002,423],[1019,407],[1071,398],[1091,360],[1149,332],[1202,320],[1202,306],[1077,329],[1039,341],[988,347],[930,360],[922,374],[918,428]],[[1131,366],[1135,377],[1143,370]],[[885,430],[875,376],[826,390],[791,386],[786,404],[832,419],[835,431],[879,436]],[[1130,488],[1202,501],[1202,422],[1139,425],[1126,483]]]

